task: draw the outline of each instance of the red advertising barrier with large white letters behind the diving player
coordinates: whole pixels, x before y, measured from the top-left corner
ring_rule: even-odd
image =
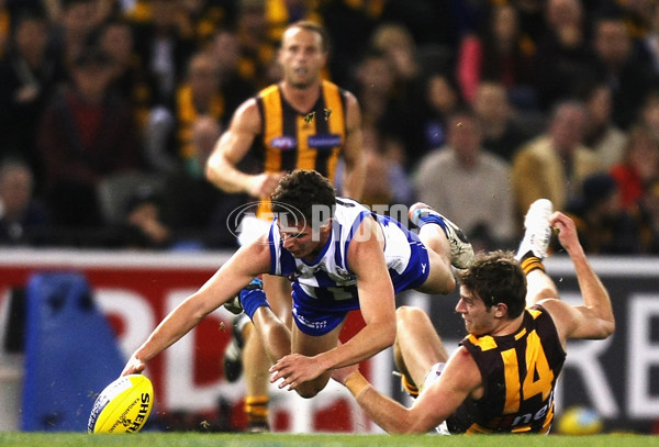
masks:
[[[231,253],[133,253],[2,249],[0,302],[23,288],[32,273],[77,271],[88,279],[97,303],[115,329],[127,356],[186,297],[200,288]],[[244,398],[242,380],[224,380],[222,357],[231,338],[232,314],[220,309],[153,359],[146,375],[155,387],[158,414],[171,412],[213,414],[220,401],[228,402],[237,428]],[[349,316],[343,338],[364,324],[358,313]],[[99,353],[102,355],[102,353]],[[362,365],[369,376],[370,364]],[[386,361],[390,361],[390,356]],[[118,371],[118,375],[121,371]],[[384,384],[387,385],[387,384]],[[272,387],[272,426],[288,432],[371,432],[373,425],[355,406],[347,391],[331,382],[312,400]]]

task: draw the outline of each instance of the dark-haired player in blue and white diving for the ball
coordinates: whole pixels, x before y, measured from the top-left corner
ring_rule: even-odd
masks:
[[[176,343],[208,313],[239,297],[266,345],[281,388],[317,394],[333,369],[361,362],[395,339],[395,293],[415,289],[442,294],[455,289],[451,265],[473,259],[462,232],[427,205],[410,210],[418,234],[357,202],[336,198],[332,183],[313,170],[284,176],[271,195],[276,217],[269,232],[242,246],[196,293],[179,304],[133,354],[123,375]],[[288,328],[270,310],[254,280],[263,273],[293,282],[293,320]],[[348,311],[366,325],[338,343]]]

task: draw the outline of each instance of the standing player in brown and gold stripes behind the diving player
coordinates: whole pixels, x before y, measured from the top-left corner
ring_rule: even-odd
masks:
[[[355,96],[323,80],[328,57],[328,36],[320,25],[302,21],[288,26],[281,40],[278,63],[282,80],[245,101],[228,130],[220,137],[206,164],[206,178],[226,192],[247,192],[267,203],[279,179],[293,169],[314,169],[335,182],[336,164],[345,161],[343,195],[360,199],[366,169],[361,154],[361,112]],[[253,150],[261,166],[257,174],[238,165]],[[267,206],[265,208],[267,210]],[[239,242],[245,245],[269,226],[263,219],[246,216]],[[273,311],[291,322],[291,286],[288,279],[264,277],[264,288]],[[225,355],[228,380],[245,369],[248,431],[268,431],[269,361],[252,324],[238,320],[234,337],[245,337],[243,358],[234,349]],[[232,342],[233,344],[233,342]],[[243,342],[238,345],[242,345]],[[236,370],[237,368],[237,372]],[[231,377],[233,376],[233,377]]]

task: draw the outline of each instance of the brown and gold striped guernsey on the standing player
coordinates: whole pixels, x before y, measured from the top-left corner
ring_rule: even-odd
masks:
[[[264,171],[314,169],[334,183],[346,139],[347,92],[327,80],[321,88],[319,100],[306,113],[289,104],[277,85],[258,93],[264,127],[255,144],[263,149]]]

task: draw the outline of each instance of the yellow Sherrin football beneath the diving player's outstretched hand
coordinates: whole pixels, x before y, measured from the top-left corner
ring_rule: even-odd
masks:
[[[89,433],[139,432],[154,406],[154,387],[143,375],[123,376],[99,394],[87,424]]]

